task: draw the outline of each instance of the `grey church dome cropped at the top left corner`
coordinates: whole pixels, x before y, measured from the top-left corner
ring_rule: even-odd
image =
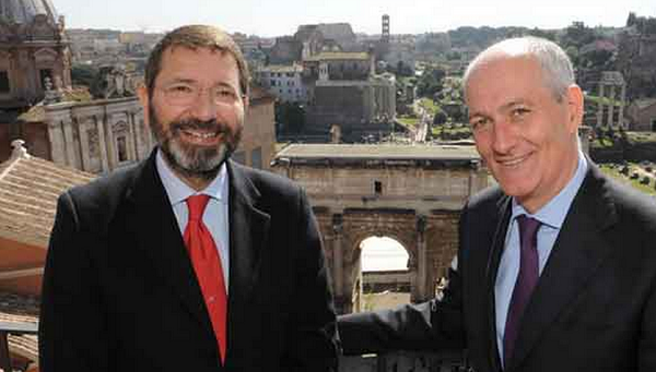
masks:
[[[58,15],[50,0],[0,0],[0,21],[8,24],[32,24],[35,19],[56,25]]]

